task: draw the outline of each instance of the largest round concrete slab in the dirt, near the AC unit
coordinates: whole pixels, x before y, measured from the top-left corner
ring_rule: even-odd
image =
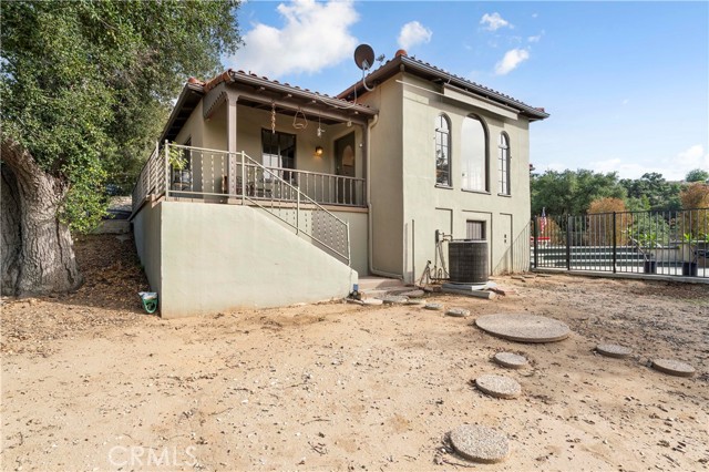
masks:
[[[520,342],[554,342],[568,338],[571,329],[562,321],[536,315],[496,314],[477,318],[483,331]]]

